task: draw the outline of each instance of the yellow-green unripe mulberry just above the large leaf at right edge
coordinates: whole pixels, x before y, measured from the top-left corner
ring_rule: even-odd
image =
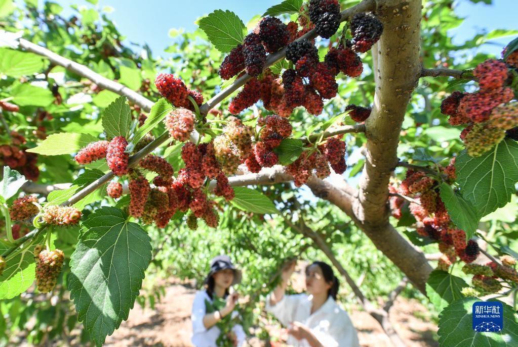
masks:
[[[474,124],[473,129],[464,138],[464,146],[472,157],[481,156],[504,137],[506,132],[498,128],[489,128],[484,124]]]

